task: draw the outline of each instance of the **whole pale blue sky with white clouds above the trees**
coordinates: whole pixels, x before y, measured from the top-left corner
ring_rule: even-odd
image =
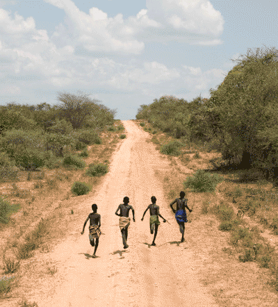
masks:
[[[0,0],[0,104],[89,94],[135,119],[163,95],[209,98],[231,58],[277,47],[277,12],[277,0]]]

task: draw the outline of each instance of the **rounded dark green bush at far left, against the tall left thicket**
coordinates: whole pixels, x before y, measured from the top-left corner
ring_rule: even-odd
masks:
[[[15,154],[15,163],[24,169],[37,169],[45,163],[44,154],[40,151],[26,149],[25,151],[17,151]]]

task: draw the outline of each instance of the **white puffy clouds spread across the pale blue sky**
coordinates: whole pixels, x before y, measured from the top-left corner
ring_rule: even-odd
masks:
[[[166,88],[172,94],[180,88],[204,90],[223,78],[221,69],[202,72],[199,67],[170,68],[132,60],[143,53],[147,41],[174,38],[189,44],[221,44],[224,21],[208,0],[147,0],[147,10],[127,19],[121,14],[108,17],[94,7],[86,14],[72,0],[44,1],[66,15],[51,35],[36,28],[33,17],[24,19],[0,8],[2,97],[28,94],[38,86],[67,90],[92,88],[92,84],[158,97]],[[77,49],[102,56],[81,56]],[[111,59],[114,54],[129,55],[131,60],[116,63]]]

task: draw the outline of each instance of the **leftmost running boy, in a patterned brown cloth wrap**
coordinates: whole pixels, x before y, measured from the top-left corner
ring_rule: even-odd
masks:
[[[92,205],[92,213],[89,214],[87,219],[85,220],[84,226],[83,226],[83,231],[81,232],[81,235],[84,233],[85,226],[88,222],[88,219],[90,219],[90,226],[89,226],[89,239],[90,239],[90,244],[92,247],[95,246],[95,251],[94,254],[92,254],[92,258],[96,258],[96,251],[97,247],[99,246],[99,236],[101,235],[100,231],[100,215],[97,213],[97,205],[93,204]],[[95,242],[96,240],[96,242]]]

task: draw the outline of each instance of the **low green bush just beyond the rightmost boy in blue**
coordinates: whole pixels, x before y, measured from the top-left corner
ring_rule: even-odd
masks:
[[[193,192],[213,192],[222,180],[218,174],[208,174],[199,169],[193,176],[188,176],[183,185],[185,188],[193,189]]]

